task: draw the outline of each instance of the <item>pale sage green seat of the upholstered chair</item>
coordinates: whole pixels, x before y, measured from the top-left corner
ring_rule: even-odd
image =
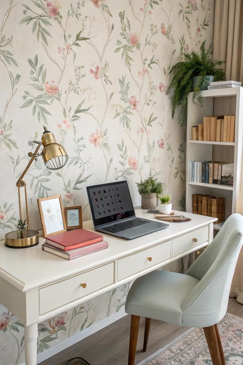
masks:
[[[181,326],[181,304],[198,282],[189,275],[154,270],[134,281],[125,311]]]

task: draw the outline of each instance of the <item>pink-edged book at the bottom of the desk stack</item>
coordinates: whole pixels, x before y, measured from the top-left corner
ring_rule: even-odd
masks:
[[[65,258],[66,260],[73,260],[74,258],[78,258],[81,256],[88,255],[93,252],[101,251],[108,248],[108,242],[107,241],[101,241],[94,243],[93,245],[85,246],[85,247],[79,247],[74,250],[68,250],[63,251],[58,249],[57,247],[48,245],[48,243],[44,243],[42,245],[42,250],[46,251],[48,253],[51,253],[52,255],[56,255],[62,258]]]

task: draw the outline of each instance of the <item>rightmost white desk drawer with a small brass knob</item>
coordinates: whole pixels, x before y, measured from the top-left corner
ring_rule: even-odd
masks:
[[[195,241],[193,241],[195,239]],[[191,250],[196,246],[208,241],[208,226],[197,229],[196,231],[185,234],[184,236],[173,239],[172,257]]]

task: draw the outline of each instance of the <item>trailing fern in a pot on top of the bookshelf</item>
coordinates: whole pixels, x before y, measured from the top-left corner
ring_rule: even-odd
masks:
[[[205,49],[205,42],[201,43],[200,52],[192,51],[184,53],[184,61],[178,62],[172,68],[176,73],[169,85],[166,94],[174,89],[171,97],[172,103],[172,119],[175,116],[176,108],[182,105],[179,114],[179,122],[183,125],[187,120],[187,96],[193,91],[192,101],[195,103],[197,99],[201,107],[203,106],[203,97],[200,91],[206,90],[211,81],[224,81],[225,73],[218,66],[223,61],[213,61],[210,57],[211,46]]]

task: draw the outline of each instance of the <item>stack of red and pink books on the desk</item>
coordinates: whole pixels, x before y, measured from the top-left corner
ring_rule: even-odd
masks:
[[[73,260],[89,253],[107,249],[108,242],[101,234],[83,228],[47,236],[42,250],[53,255]]]

